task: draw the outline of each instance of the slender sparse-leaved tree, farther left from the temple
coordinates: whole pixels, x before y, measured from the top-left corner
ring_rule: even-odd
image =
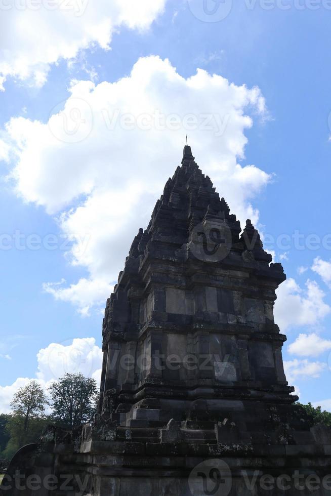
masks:
[[[43,388],[36,381],[30,381],[14,394],[10,405],[13,414],[24,419],[24,434],[28,432],[31,419],[43,416],[48,404]]]

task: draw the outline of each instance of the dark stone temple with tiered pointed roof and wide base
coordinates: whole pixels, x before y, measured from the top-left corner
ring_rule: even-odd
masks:
[[[331,494],[331,430],[294,404],[271,262],[185,146],[107,301],[93,425],[21,449],[2,494]],[[17,490],[17,470],[42,487]]]

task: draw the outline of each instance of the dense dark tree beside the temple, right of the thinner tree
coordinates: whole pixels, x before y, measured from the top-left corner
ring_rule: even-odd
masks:
[[[50,386],[49,393],[57,424],[72,429],[92,420],[98,398],[94,379],[82,374],[66,374]]]

